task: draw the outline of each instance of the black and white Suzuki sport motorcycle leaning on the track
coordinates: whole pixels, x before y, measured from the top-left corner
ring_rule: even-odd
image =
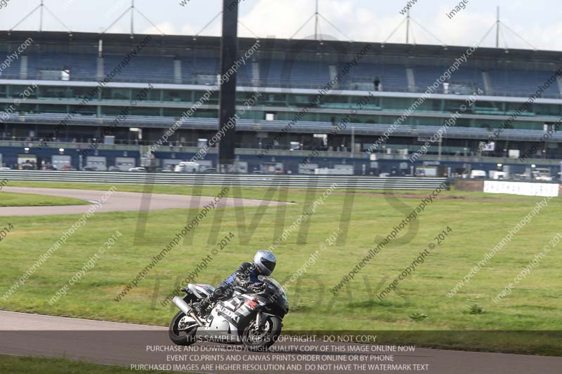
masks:
[[[193,304],[214,291],[209,284],[183,288],[185,296],[172,302],[180,309],[170,322],[169,337],[176,345],[192,345],[197,340],[242,343],[250,351],[263,351],[273,345],[289,312],[282,286],[273,278],[259,276],[261,286],[234,286],[230,299],[218,301],[208,314],[200,315]]]

